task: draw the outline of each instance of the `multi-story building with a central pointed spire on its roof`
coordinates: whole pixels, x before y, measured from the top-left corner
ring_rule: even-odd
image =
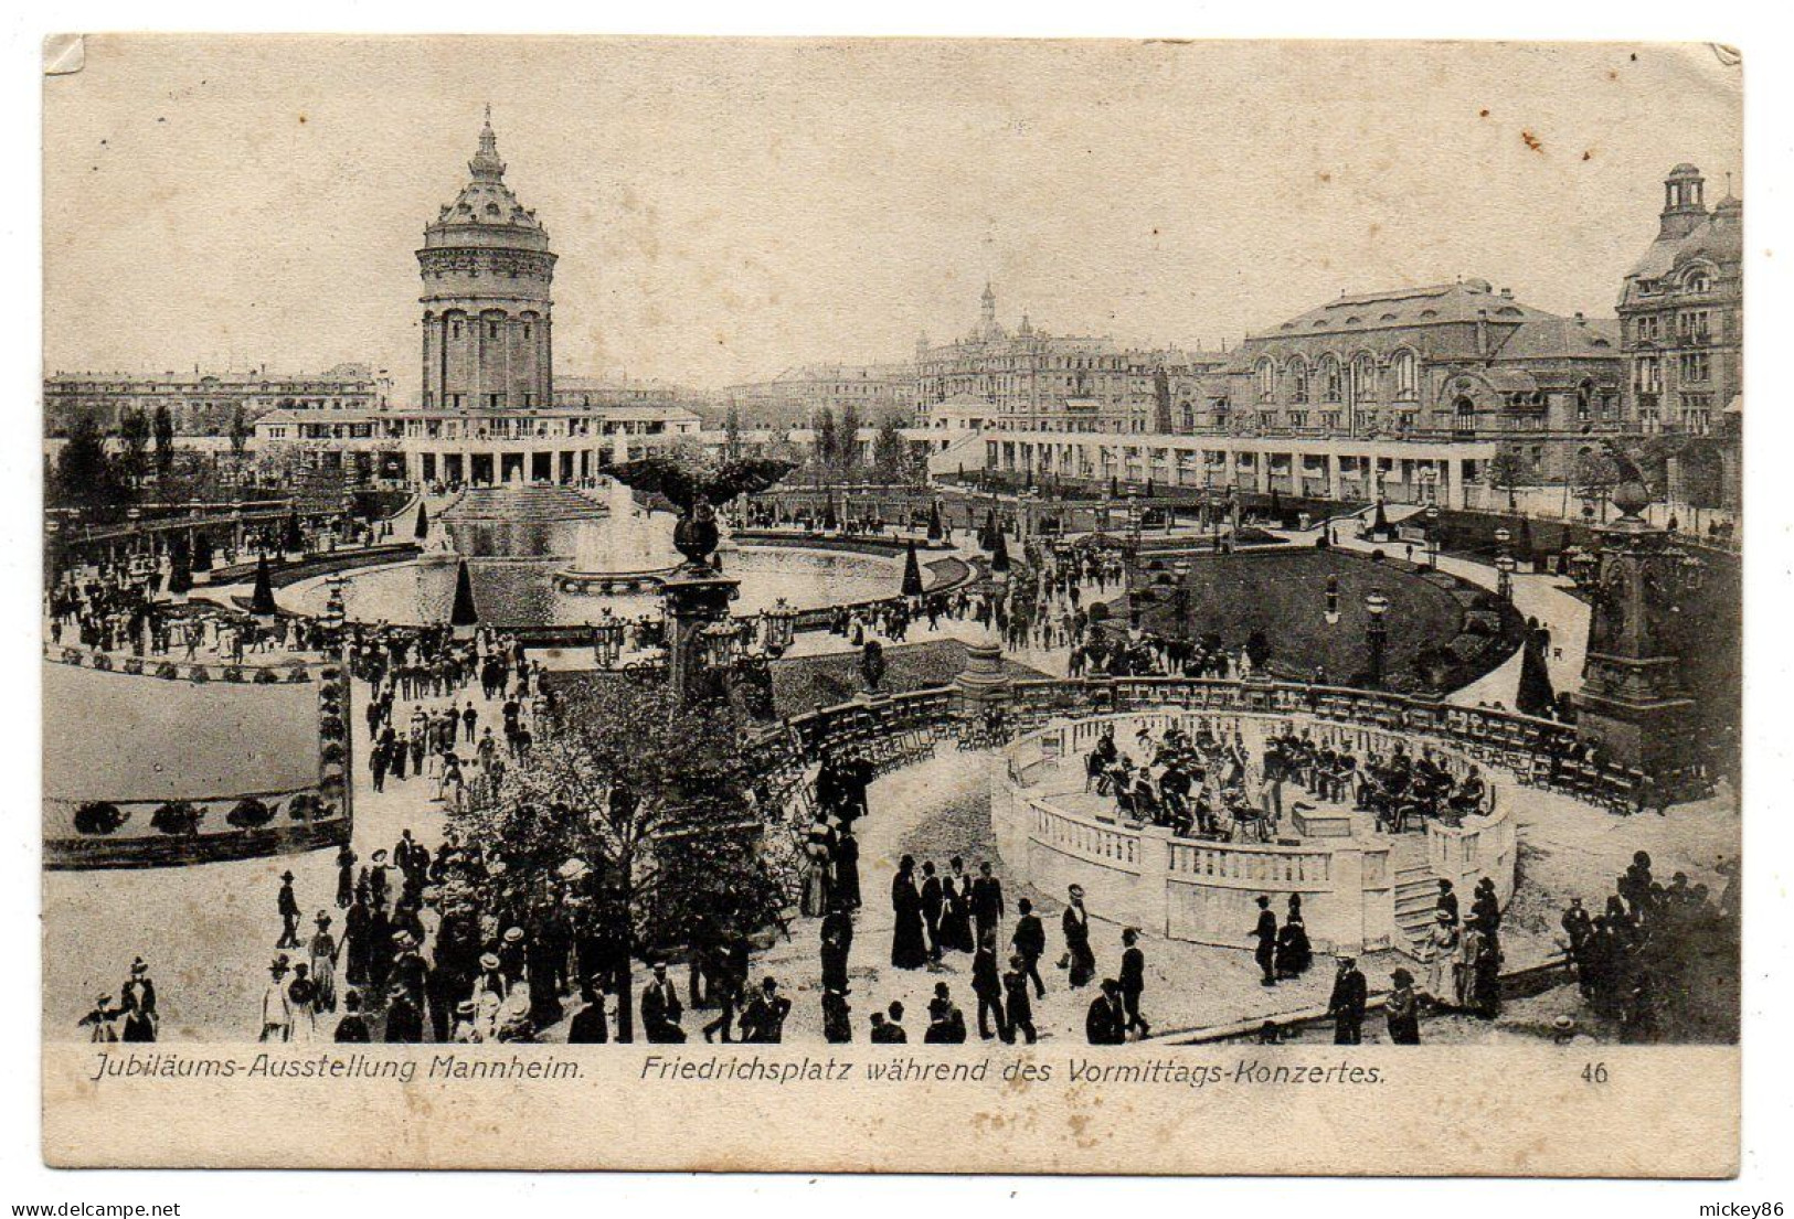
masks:
[[[1200,378],[1225,364],[1202,351],[1130,351],[1107,337],[1051,335],[1024,314],[1010,332],[985,285],[980,323],[963,339],[915,344],[915,414],[983,400],[997,430],[1152,432],[1195,421]]]

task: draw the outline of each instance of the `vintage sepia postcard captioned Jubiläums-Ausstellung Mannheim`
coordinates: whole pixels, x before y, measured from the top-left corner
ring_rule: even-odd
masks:
[[[48,1163],[1737,1172],[1738,52],[43,72]]]

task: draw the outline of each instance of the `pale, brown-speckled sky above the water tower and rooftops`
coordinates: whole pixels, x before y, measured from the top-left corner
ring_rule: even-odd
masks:
[[[1484,278],[1611,316],[1661,179],[1742,177],[1701,45],[90,38],[45,79],[45,367],[418,391],[423,226],[492,106],[558,375],[719,387],[978,317],[1238,342]]]

